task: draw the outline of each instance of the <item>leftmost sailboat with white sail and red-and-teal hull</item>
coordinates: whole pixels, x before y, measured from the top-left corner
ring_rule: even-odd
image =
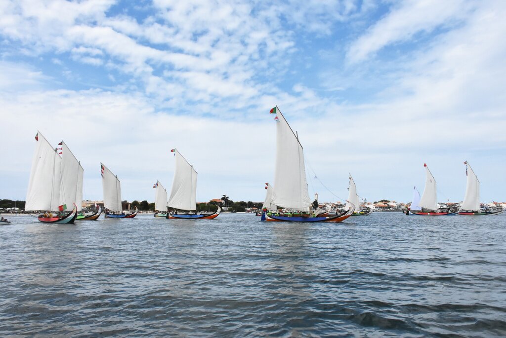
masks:
[[[25,211],[37,213],[40,222],[72,224],[77,207],[69,211],[64,202],[62,158],[38,130],[35,141]]]

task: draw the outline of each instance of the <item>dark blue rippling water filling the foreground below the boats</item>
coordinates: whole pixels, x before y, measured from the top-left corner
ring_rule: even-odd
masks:
[[[0,336],[506,336],[506,215],[0,226]]]

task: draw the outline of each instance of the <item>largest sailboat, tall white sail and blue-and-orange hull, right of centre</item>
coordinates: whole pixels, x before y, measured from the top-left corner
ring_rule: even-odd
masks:
[[[271,207],[285,209],[285,214],[278,211],[264,211],[262,219],[286,222],[341,222],[350,217],[355,211],[355,206],[342,215],[318,216],[312,213],[302,144],[277,106],[271,109],[270,113],[276,115],[274,120],[277,121],[276,170],[272,199],[267,201],[266,197],[266,201]]]

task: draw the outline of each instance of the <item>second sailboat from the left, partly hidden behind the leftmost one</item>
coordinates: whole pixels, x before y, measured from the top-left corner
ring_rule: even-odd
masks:
[[[82,210],[82,179],[84,169],[81,166],[81,162],[75,158],[64,141],[61,141],[58,145],[61,146],[57,149],[60,151],[59,154],[62,157],[62,196],[66,202],[64,205],[68,207],[75,204],[77,208],[76,220],[96,220],[102,213],[100,207],[88,212]]]

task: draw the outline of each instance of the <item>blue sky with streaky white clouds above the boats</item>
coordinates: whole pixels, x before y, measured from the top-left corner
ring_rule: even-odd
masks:
[[[100,162],[122,198],[170,191],[177,148],[197,201],[263,201],[277,105],[304,147],[309,192],[409,202],[424,163],[438,201],[506,201],[502,0],[0,2],[0,199],[25,200],[37,130]]]

